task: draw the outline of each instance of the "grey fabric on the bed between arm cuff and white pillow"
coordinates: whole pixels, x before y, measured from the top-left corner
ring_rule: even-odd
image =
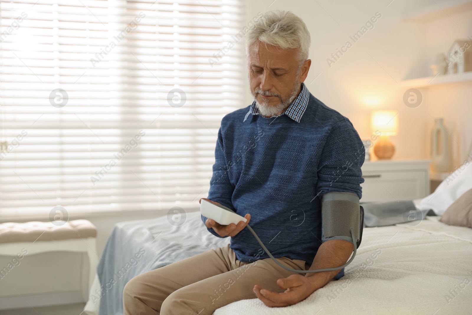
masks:
[[[364,226],[387,226],[397,223],[417,225],[427,215],[436,215],[432,210],[417,210],[413,201],[361,203],[364,208]]]

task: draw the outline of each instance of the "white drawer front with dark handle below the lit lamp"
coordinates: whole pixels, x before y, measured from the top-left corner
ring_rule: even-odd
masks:
[[[401,201],[423,198],[426,192],[424,171],[363,172],[361,202]]]

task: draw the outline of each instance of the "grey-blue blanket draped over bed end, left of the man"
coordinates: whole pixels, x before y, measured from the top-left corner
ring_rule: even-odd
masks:
[[[123,315],[123,288],[133,277],[228,243],[206,230],[200,212],[187,213],[181,226],[165,216],[118,223],[97,268],[101,292],[91,298],[100,299],[100,315]]]

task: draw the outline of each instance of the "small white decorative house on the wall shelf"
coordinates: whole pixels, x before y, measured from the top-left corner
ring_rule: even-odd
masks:
[[[472,37],[456,40],[447,52],[447,74],[472,71]]]

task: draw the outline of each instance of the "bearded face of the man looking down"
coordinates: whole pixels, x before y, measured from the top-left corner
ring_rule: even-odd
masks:
[[[298,50],[283,50],[256,42],[247,55],[249,86],[263,116],[274,116],[287,109],[300,92],[311,60],[299,68]]]

